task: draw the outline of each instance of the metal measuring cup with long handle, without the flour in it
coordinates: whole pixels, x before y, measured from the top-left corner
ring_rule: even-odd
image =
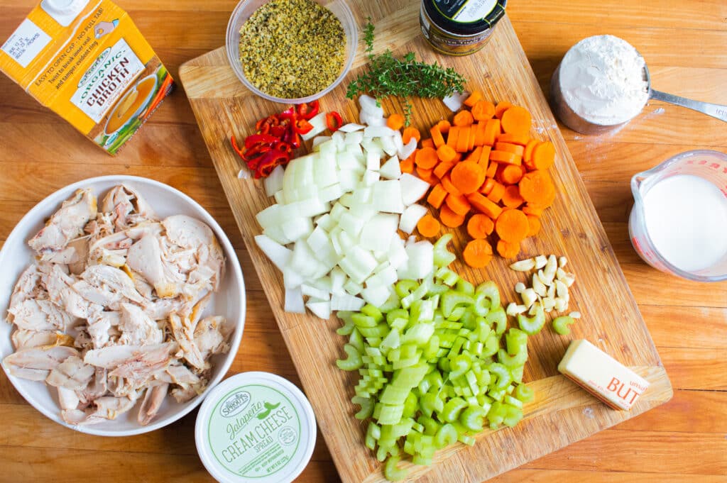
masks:
[[[571,106],[568,104],[565,97],[563,97],[563,89],[561,86],[561,64],[562,61],[558,64],[558,67],[555,68],[553,77],[550,78],[550,102],[553,110],[555,111],[555,115],[558,116],[563,124],[581,134],[604,134],[608,131],[618,129],[619,127],[624,126],[624,124],[630,121],[629,120],[618,124],[604,125],[588,121],[581,115],[575,113],[574,110],[571,109]],[[646,102],[648,102],[649,99],[669,102],[670,104],[678,105],[681,107],[688,107],[688,109],[696,110],[700,113],[711,115],[713,118],[718,118],[720,121],[727,122],[727,106],[725,105],[695,101],[687,99],[686,97],[675,96],[673,94],[667,94],[666,92],[652,89],[651,75],[648,72],[648,66],[646,65],[646,63],[643,66],[643,78],[646,81],[648,89],[648,97],[646,98]],[[646,102],[644,102],[644,105],[646,105]]]

